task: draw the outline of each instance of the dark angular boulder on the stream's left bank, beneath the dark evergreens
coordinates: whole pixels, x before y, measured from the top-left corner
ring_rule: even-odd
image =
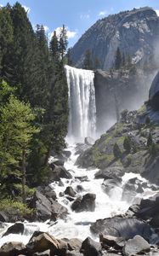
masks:
[[[50,173],[49,182],[60,181],[61,177],[70,179],[71,173],[65,170],[63,166],[52,165],[52,172]]]

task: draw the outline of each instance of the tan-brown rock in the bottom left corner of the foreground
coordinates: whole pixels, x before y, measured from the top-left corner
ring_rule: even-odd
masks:
[[[0,256],[16,256],[25,254],[26,246],[22,242],[10,241],[3,244],[0,248]]]

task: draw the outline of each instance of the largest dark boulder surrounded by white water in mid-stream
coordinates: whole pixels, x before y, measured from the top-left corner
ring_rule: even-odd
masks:
[[[95,209],[95,194],[86,194],[82,198],[78,197],[71,205],[71,209],[75,212],[94,212]]]

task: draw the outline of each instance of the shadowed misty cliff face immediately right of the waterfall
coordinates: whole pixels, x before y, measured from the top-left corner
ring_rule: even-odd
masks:
[[[106,72],[97,70],[94,76],[97,131],[105,132],[115,121],[116,113],[123,109],[139,108],[148,98],[154,74],[149,77],[138,70]]]

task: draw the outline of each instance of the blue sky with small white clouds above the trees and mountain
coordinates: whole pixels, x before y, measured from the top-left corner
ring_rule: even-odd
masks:
[[[14,0],[0,0],[0,5]],[[150,6],[158,10],[159,0],[20,0],[28,9],[28,16],[32,26],[43,24],[48,37],[55,29],[67,26],[69,46],[73,46],[77,39],[99,20],[107,15],[116,14],[122,10]]]

